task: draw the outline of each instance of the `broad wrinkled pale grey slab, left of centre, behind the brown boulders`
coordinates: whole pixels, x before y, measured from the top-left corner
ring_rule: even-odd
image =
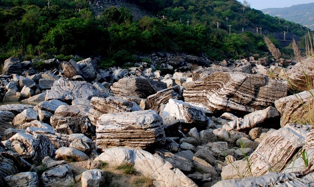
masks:
[[[85,81],[67,81],[60,78],[55,81],[51,90],[46,94],[45,101],[57,99],[63,102],[71,102],[78,98],[91,99],[92,97],[104,97],[104,93]]]

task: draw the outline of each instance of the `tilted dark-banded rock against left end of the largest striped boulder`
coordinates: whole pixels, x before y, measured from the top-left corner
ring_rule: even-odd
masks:
[[[148,96],[146,104],[150,109],[160,112],[160,109],[168,103],[169,99],[181,99],[181,88],[179,85],[160,90],[156,94]]]

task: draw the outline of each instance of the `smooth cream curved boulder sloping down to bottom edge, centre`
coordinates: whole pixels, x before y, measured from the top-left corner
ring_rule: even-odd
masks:
[[[129,163],[135,170],[153,180],[155,187],[197,187],[179,169],[156,154],[138,149],[114,147],[106,149],[95,160],[107,162],[110,166],[119,166]]]

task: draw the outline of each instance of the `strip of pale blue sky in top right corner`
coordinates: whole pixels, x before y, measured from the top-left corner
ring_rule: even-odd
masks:
[[[243,0],[238,0],[243,2]],[[306,4],[314,2],[314,0],[247,0],[250,3],[251,8],[257,10],[265,8],[283,8],[289,7],[295,4]]]

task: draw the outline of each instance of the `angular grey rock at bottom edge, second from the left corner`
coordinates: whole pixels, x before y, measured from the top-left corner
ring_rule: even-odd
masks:
[[[43,187],[68,187],[74,183],[73,173],[68,165],[53,167],[42,175]]]

